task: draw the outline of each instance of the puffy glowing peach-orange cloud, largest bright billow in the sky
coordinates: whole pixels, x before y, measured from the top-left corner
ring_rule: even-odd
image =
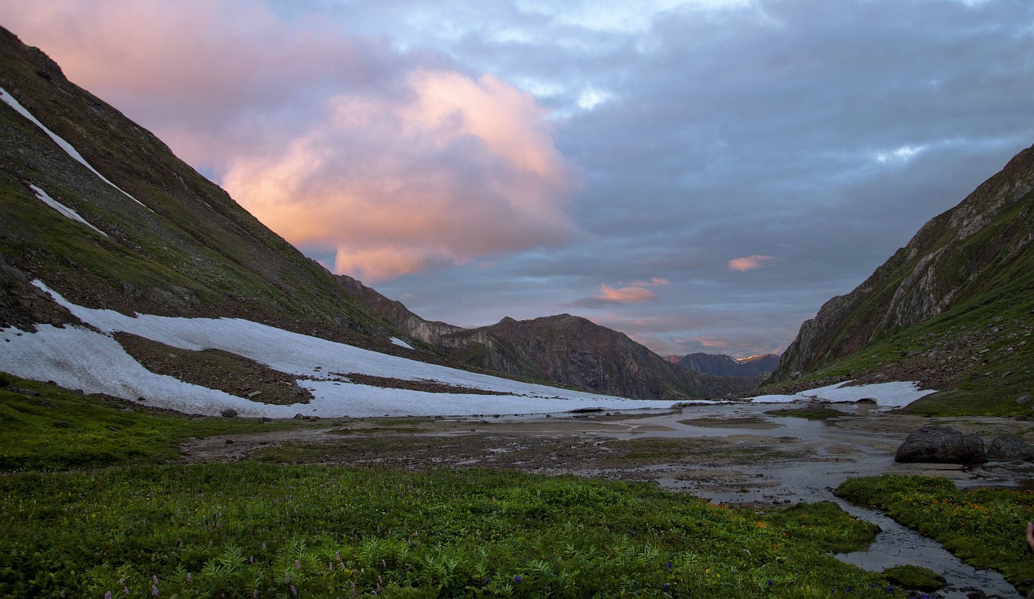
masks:
[[[416,70],[398,98],[341,94],[281,152],[223,186],[334,270],[378,281],[565,242],[570,181],[545,112],[491,75]]]

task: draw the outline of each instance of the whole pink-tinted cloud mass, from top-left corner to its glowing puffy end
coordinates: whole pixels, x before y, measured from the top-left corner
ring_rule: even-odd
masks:
[[[565,243],[547,112],[490,74],[252,0],[0,0],[73,82],[367,281]]]

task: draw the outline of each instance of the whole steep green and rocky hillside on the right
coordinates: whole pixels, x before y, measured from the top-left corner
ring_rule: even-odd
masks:
[[[1012,413],[1034,349],[1034,148],[927,222],[861,285],[827,302],[772,382],[893,377],[945,389],[914,409]]]

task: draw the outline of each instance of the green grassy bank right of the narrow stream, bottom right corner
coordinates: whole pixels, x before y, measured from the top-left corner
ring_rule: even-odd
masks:
[[[1034,492],[959,491],[945,478],[887,475],[848,479],[837,495],[885,511],[977,568],[1001,571],[1023,593],[1034,589],[1025,538]]]

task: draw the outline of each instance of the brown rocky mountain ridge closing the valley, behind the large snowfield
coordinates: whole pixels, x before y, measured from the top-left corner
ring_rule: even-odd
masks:
[[[424,320],[351,277],[339,276],[338,282],[408,335],[442,348],[453,359],[495,372],[636,399],[716,398],[760,382],[691,372],[622,333],[570,314],[504,318],[489,326],[462,328]]]

